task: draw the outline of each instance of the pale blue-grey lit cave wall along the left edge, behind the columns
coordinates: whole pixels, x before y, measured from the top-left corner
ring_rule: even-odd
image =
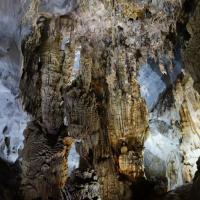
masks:
[[[23,130],[28,119],[19,100],[20,20],[24,3],[0,2],[0,156],[12,162],[23,147]]]

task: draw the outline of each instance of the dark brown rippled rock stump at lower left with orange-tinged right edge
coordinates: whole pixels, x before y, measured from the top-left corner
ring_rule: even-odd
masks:
[[[28,124],[22,151],[24,199],[59,198],[68,176],[66,158],[72,143],[65,135],[65,129],[61,129],[57,137],[48,135],[45,125],[39,122]]]

